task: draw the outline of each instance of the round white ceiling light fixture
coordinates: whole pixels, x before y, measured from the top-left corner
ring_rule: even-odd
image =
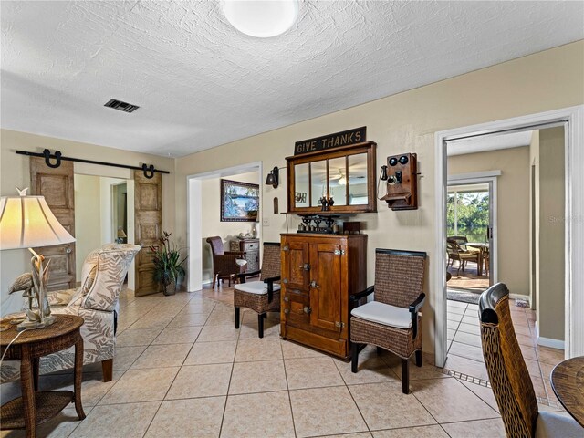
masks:
[[[232,26],[256,38],[283,34],[298,16],[297,0],[224,0],[221,8]]]

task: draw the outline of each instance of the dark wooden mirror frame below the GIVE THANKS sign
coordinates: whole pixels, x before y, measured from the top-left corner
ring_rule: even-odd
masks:
[[[377,143],[374,141],[367,141],[364,143],[352,144],[343,146],[330,151],[308,152],[302,155],[295,155],[287,157],[287,213],[288,214],[352,214],[352,213],[375,213],[377,212],[377,196],[375,188],[375,170],[376,165],[376,147]],[[296,174],[295,165],[309,162],[318,162],[321,160],[330,160],[334,158],[348,157],[349,155],[357,155],[360,153],[367,154],[367,203],[360,205],[333,205],[328,207],[327,211],[322,211],[320,206],[297,207],[295,203],[296,197]],[[327,164],[328,167],[328,164]],[[327,169],[327,181],[328,179]],[[311,199],[312,184],[310,183],[311,175],[308,172],[308,199]],[[349,192],[349,185],[347,186]],[[327,193],[329,187],[327,183]]]

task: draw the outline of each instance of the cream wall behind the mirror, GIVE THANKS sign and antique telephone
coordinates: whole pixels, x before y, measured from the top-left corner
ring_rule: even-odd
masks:
[[[369,235],[368,283],[373,282],[376,247],[426,251],[431,270],[435,263],[437,202],[433,183],[435,132],[582,104],[583,77],[584,42],[579,41],[194,153],[176,162],[176,231],[183,238],[186,235],[187,175],[254,160],[262,160],[265,169],[274,165],[281,167],[285,165],[284,158],[293,154],[295,141],[365,125],[368,140],[378,143],[378,167],[388,155],[415,151],[419,172],[422,172],[418,210],[392,212],[384,203],[378,203],[378,214],[359,215]],[[285,173],[281,172],[282,181],[286,181]],[[277,189],[264,184],[261,187],[263,199],[278,196],[280,205],[286,205],[286,184]],[[262,214],[269,222],[262,230],[264,238],[278,240],[280,233],[286,231],[286,216],[273,214],[266,203],[263,203]],[[289,221],[290,229],[297,227],[297,217]],[[432,279],[426,281],[428,303],[423,310],[423,349],[426,351],[433,351],[434,291],[437,287],[440,286],[434,285]]]

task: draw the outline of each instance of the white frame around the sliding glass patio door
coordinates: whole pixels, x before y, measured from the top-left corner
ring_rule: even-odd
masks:
[[[485,176],[489,174],[492,176]],[[465,184],[488,184],[489,185],[489,222],[492,229],[492,235],[489,239],[489,257],[490,257],[490,267],[489,267],[489,283],[494,285],[499,278],[499,269],[497,266],[498,257],[498,246],[497,246],[497,176],[501,174],[501,171],[493,172],[475,172],[475,173],[464,173],[458,175],[448,175],[448,182],[446,186],[449,185],[465,185]],[[474,176],[475,175],[475,176]],[[448,189],[446,189],[448,190]]]

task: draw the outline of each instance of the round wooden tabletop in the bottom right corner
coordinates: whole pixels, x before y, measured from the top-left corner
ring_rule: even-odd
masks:
[[[551,371],[551,387],[566,411],[584,427],[584,356],[559,362]]]

